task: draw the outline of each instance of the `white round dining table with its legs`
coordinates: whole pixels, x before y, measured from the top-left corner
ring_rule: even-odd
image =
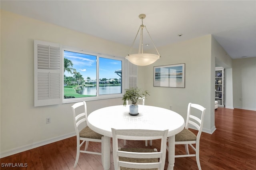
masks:
[[[104,135],[102,139],[102,165],[104,170],[110,169],[110,138],[111,128],[115,129],[168,129],[168,170],[174,168],[175,134],[184,128],[184,118],[165,108],[139,105],[139,114],[129,114],[129,105],[109,106],[95,110],[87,118],[89,128]]]

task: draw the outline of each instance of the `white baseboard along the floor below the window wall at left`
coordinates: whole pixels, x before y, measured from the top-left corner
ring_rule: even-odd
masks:
[[[24,152],[26,150],[30,150],[30,149],[33,149],[33,148],[44,146],[44,145],[47,145],[47,144],[50,144],[50,143],[53,143],[53,142],[57,142],[57,141],[60,141],[60,140],[66,139],[66,138],[70,138],[72,136],[76,136],[76,133],[72,132],[70,134],[64,134],[64,135],[57,136],[57,137],[54,137],[54,138],[42,140],[40,142],[36,142],[36,143],[33,143],[33,144],[28,144],[28,145],[20,146],[18,148],[13,148],[13,149],[10,149],[10,150],[6,150],[4,152],[1,152],[0,158],[4,158],[6,156],[10,156],[10,155],[13,155],[13,154]]]

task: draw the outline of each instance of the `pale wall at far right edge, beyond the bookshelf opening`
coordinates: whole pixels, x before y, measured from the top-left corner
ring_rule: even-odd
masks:
[[[233,60],[234,108],[256,110],[256,58]]]

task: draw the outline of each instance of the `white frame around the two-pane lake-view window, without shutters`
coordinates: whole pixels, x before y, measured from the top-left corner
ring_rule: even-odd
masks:
[[[78,52],[83,54],[89,54],[93,56],[97,56],[97,79],[96,79],[96,88],[99,89],[99,58],[109,58],[114,60],[121,60],[122,61],[122,93],[120,94],[104,94],[99,95],[98,90],[96,91],[96,96],[92,97],[84,97],[84,98],[68,98],[64,99],[64,95],[62,95],[62,103],[70,103],[70,102],[79,102],[79,101],[90,101],[90,100],[100,100],[100,99],[108,99],[108,98],[120,98],[124,94],[125,89],[125,80],[126,80],[126,73],[127,73],[127,67],[126,67],[126,60],[122,57],[116,57],[116,56],[110,56],[106,54],[99,54],[94,52],[88,52],[86,50],[77,50],[74,48],[69,47],[63,47],[62,48],[62,60],[64,61],[64,50],[65,51],[71,51],[71,52]],[[63,68],[64,68],[64,62],[62,62]],[[62,82],[64,82],[64,69],[62,69]],[[62,85],[62,94],[64,94],[64,83]]]

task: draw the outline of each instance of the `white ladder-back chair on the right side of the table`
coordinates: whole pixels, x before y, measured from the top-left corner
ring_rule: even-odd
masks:
[[[191,114],[192,112],[191,110],[193,111],[193,115]],[[184,144],[185,150],[186,150],[186,154],[175,155],[175,158],[196,156],[196,163],[199,170],[202,170],[200,166],[200,160],[199,160],[199,143],[200,143],[200,136],[203,128],[205,110],[206,108],[204,108],[199,104],[189,103],[185,128],[180,133],[175,135],[175,144]],[[196,114],[197,116],[194,116]],[[188,130],[189,126],[190,127],[193,126],[198,130],[197,135],[195,135],[193,132]],[[196,147],[194,147],[192,144],[196,144]],[[192,149],[196,152],[196,154],[189,154],[188,145],[192,147]]]

